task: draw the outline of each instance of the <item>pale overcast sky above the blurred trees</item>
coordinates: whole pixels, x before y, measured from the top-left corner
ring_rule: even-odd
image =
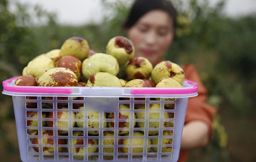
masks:
[[[103,19],[101,0],[16,0],[22,4],[40,4],[48,12],[57,14],[57,22],[67,25],[99,23]],[[114,0],[109,0],[114,1]],[[216,4],[218,0],[210,0]],[[224,12],[231,17],[256,13],[256,0],[227,0]]]

